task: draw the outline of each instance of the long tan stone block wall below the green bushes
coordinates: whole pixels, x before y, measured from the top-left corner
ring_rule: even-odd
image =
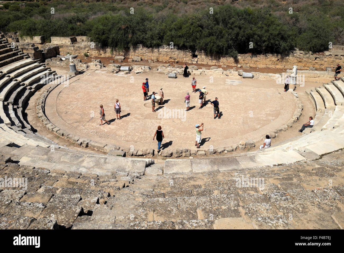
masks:
[[[124,55],[127,58],[135,56],[142,60],[152,61],[179,61],[186,63],[198,63],[208,65],[247,65],[249,67],[259,68],[292,68],[297,65],[299,68],[315,67],[318,70],[325,70],[327,66],[334,66],[337,62],[344,61],[344,46],[333,46],[333,49],[322,53],[293,51],[288,57],[282,58],[278,55],[250,55],[239,54],[238,62],[232,57],[216,57],[205,54],[203,51],[196,51],[196,57],[193,57],[189,50],[179,50],[161,46],[160,48],[145,48],[142,45],[137,48],[131,48],[128,51],[112,51],[110,48],[99,48],[97,44],[92,43],[86,36],[75,37],[52,37],[52,44],[60,48],[60,53],[73,53],[83,55],[88,53],[92,57],[114,57],[115,55]]]

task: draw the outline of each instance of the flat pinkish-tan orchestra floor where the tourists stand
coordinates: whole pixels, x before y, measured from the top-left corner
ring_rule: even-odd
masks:
[[[66,69],[56,69],[64,73]],[[163,149],[194,148],[195,124],[205,125],[201,149],[238,144],[241,140],[257,141],[258,149],[265,134],[286,124],[292,117],[296,99],[289,92],[283,92],[283,85],[274,80],[244,79],[241,77],[196,76],[197,88],[206,86],[206,106],[198,109],[198,94],[191,93],[191,78],[167,75],[149,71],[141,74],[115,75],[88,70],[71,78],[69,85],[56,88],[46,101],[46,115],[56,126],[80,137],[120,147],[157,148],[153,135],[161,126],[165,138]],[[164,104],[158,112],[151,110],[151,101],[143,101],[142,82],[149,78],[150,92],[163,87]],[[304,104],[300,122],[280,133],[273,142],[300,135],[301,124],[314,116],[314,107],[303,93],[305,88],[320,86],[320,83],[306,82],[297,87]],[[184,96],[191,95],[191,110],[185,112]],[[214,119],[210,101],[218,97],[221,119]],[[121,120],[114,112],[115,99],[122,107]],[[105,108],[110,125],[99,126],[99,105]],[[173,112],[175,115],[173,116]],[[172,114],[172,117],[169,116]],[[259,145],[258,145],[259,144]],[[273,143],[272,143],[273,144]],[[250,149],[251,151],[252,149]]]

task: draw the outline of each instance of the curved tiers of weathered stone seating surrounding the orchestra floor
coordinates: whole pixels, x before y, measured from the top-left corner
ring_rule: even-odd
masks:
[[[0,228],[343,229],[343,78],[305,90],[316,114],[302,135],[232,155],[252,143],[204,157],[171,151],[174,159],[54,125],[45,103],[62,83],[0,35]],[[52,132],[39,134],[33,121]]]

